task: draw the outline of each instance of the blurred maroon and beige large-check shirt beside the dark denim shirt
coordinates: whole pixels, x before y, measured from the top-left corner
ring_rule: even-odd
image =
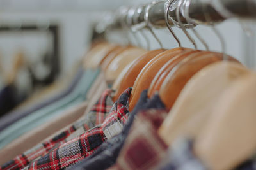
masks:
[[[157,129],[167,113],[156,109],[139,113],[116,164],[109,169],[156,169],[166,155],[167,146],[157,135]]]

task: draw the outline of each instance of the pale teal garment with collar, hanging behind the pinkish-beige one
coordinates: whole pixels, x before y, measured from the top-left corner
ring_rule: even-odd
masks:
[[[50,104],[49,106],[44,107],[31,115],[28,115],[28,117],[22,118],[21,120],[15,122],[15,124],[12,124],[10,127],[0,132],[0,148],[3,148],[3,146],[6,146],[20,135],[31,131],[35,127],[38,127],[38,125],[42,125],[51,118],[60,115],[70,106],[83,102],[87,91],[90,89],[98,74],[99,70],[86,70],[83,77],[76,85],[76,88],[70,94],[68,94],[68,96],[61,98],[56,103]]]

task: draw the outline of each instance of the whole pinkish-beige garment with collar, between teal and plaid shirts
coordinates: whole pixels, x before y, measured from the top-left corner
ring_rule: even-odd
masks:
[[[106,89],[107,83],[101,72],[86,94],[86,99],[90,99],[87,100],[88,102],[85,101],[77,106],[73,106],[70,110],[68,109],[64,113],[61,113],[58,118],[49,120],[49,122],[36,127],[32,131],[6,145],[0,152],[0,165],[13,159],[17,155],[26,152],[26,150],[29,150],[38,143],[43,143],[48,138],[51,138],[51,136],[56,136],[61,129],[70,127],[70,125],[74,124],[77,120],[83,119],[84,114],[90,111],[92,104],[97,102]]]

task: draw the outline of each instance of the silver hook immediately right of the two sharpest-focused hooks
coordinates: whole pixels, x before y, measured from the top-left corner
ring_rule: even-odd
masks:
[[[181,6],[181,10],[182,10],[181,13],[182,13],[183,17],[186,19],[186,22],[188,22],[188,24],[196,24],[189,17],[189,6],[190,6],[190,3],[191,3],[191,0],[182,0],[182,1],[183,1],[183,3],[182,3],[182,6]],[[191,30],[195,34],[196,38],[198,38],[199,41],[202,43],[202,45],[204,45],[205,49],[207,51],[209,51],[209,46],[204,41],[204,39],[200,36],[200,34],[196,31],[196,29],[194,27],[191,27]]]

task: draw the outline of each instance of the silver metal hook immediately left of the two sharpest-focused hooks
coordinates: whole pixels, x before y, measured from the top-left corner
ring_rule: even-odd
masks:
[[[148,29],[148,31],[150,31],[150,33],[154,36],[154,38],[156,39],[156,41],[159,43],[160,48],[163,48],[163,44],[161,43],[161,41],[157,38],[155,32],[152,30],[152,24],[150,23],[148,17],[149,17],[149,11],[152,8],[152,6],[156,5],[157,3],[160,3],[163,1],[153,1],[152,3],[148,4],[145,8],[145,14],[144,14],[144,20],[145,20],[145,24],[146,27]]]

